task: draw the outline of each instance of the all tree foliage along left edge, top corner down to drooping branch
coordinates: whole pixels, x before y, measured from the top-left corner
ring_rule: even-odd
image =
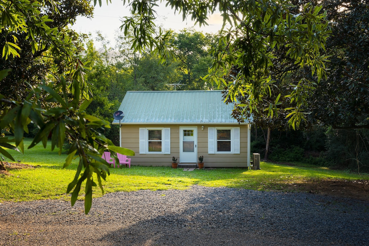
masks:
[[[96,4],[97,0],[94,3]],[[101,0],[99,4],[101,6]],[[145,5],[144,2],[142,4]],[[87,213],[92,204],[92,187],[97,185],[92,177],[94,174],[97,175],[99,186],[103,189],[101,179],[106,179],[109,170],[107,163],[101,159],[101,153],[113,143],[97,131],[101,128],[110,128],[109,122],[86,114],[86,109],[92,102],[90,84],[86,80],[89,69],[77,58],[77,35],[65,27],[70,21],[73,22],[78,14],[89,15],[92,9],[86,1],[77,1],[70,13],[61,13],[62,6],[63,3],[56,3],[54,0],[0,1],[0,32],[5,40],[1,44],[2,58],[4,64],[9,63],[11,64],[9,66],[14,67],[13,77],[15,77],[6,78],[10,70],[1,70],[0,80],[6,78],[8,81],[5,83],[11,80],[29,85],[28,90],[24,88],[20,91],[20,95],[14,97],[8,92],[4,93],[11,98],[22,98],[20,101],[9,100],[5,95],[0,95],[1,133],[6,131],[14,135],[14,139],[0,136],[0,155],[14,160],[7,149],[23,152],[23,134],[24,131],[28,132],[27,126],[31,122],[37,126],[38,132],[29,148],[40,142],[46,148],[48,139],[51,139],[51,149],[59,148],[60,155],[63,144],[70,142],[72,146],[63,166],[69,166],[76,158],[79,158],[79,164],[75,179],[69,184],[67,191],[73,191],[72,204],[74,204],[81,185],[86,182]],[[45,13],[51,13],[51,16]],[[22,59],[23,55],[25,59]],[[20,57],[19,61],[11,59],[12,56]],[[37,61],[35,62],[37,64],[44,61],[45,67],[51,68],[45,69],[47,72],[45,75],[41,75],[43,71],[30,72],[36,66],[31,68],[27,67],[28,64],[21,66],[22,62],[27,63],[25,61],[28,60],[29,63]],[[27,69],[27,72],[23,69]],[[65,75],[68,79],[63,76],[58,79],[55,76],[66,70],[68,72]],[[23,77],[27,74],[31,76]],[[47,78],[47,83],[43,80],[36,81],[38,77],[44,77],[45,80]]]

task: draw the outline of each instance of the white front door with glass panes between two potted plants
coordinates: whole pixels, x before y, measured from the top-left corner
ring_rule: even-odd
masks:
[[[197,163],[197,127],[179,128],[180,163]]]

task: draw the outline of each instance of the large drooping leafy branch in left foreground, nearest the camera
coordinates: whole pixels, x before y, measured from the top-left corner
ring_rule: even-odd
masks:
[[[73,81],[73,83],[75,82]],[[93,174],[97,175],[101,190],[103,190],[101,180],[106,180],[107,175],[109,175],[108,164],[101,158],[102,153],[110,150],[125,155],[134,155],[134,152],[114,146],[109,139],[100,134],[97,129],[110,128],[109,122],[86,114],[85,110],[92,99],[84,100],[79,107],[80,102],[75,100],[73,93],[79,98],[80,90],[74,87],[72,97],[69,97],[67,96],[70,93],[68,88],[70,87],[67,86],[67,82],[62,77],[58,84],[46,85],[43,83],[39,85],[30,92],[27,100],[23,102],[4,100],[4,96],[1,95],[0,101],[4,111],[0,115],[0,127],[1,129],[10,129],[14,134],[14,139],[0,137],[0,153],[14,161],[6,149],[18,150],[17,146],[19,146],[23,151],[23,132],[31,121],[39,127],[39,131],[28,147],[29,149],[39,142],[42,142],[46,148],[48,138],[51,136],[51,149],[59,148],[60,155],[66,139],[71,141],[72,145],[63,167],[68,167],[76,158],[79,158],[79,164],[75,178],[68,185],[67,193],[73,190],[72,205],[74,205],[81,185],[86,182],[84,192],[87,214],[92,205],[92,187],[97,186],[93,181]],[[41,98],[46,98],[46,100],[41,103],[39,101],[42,100]],[[15,145],[11,145],[11,142],[14,142]],[[82,171],[83,174],[80,176]]]

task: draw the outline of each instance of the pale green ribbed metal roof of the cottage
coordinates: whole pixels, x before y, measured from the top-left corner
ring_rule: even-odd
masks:
[[[238,123],[232,109],[221,91],[127,91],[119,107],[122,124]]]

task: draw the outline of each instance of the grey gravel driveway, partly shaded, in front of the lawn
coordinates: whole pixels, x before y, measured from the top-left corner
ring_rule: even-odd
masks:
[[[369,202],[192,186],[0,204],[0,245],[368,245]]]

